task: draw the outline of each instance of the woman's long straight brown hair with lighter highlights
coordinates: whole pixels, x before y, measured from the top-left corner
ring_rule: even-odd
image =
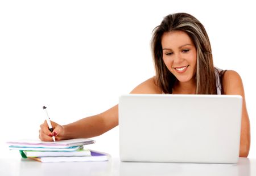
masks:
[[[152,55],[155,64],[156,84],[163,93],[172,93],[176,77],[163,62],[162,36],[165,32],[183,31],[196,46],[196,94],[217,94],[216,75],[212,59],[209,37],[203,24],[194,16],[186,13],[167,15],[154,31],[151,40]]]

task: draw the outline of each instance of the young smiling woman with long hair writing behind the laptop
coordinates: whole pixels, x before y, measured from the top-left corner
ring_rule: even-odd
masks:
[[[250,122],[242,80],[235,71],[224,71],[213,66],[210,41],[199,20],[185,13],[166,16],[154,29],[151,46],[156,75],[139,84],[131,93],[241,95],[240,157],[247,157]],[[52,141],[52,136],[56,140],[91,138],[117,125],[118,105],[115,105],[101,114],[68,125],[52,122],[53,132],[44,122],[40,126],[39,138],[44,141]]]

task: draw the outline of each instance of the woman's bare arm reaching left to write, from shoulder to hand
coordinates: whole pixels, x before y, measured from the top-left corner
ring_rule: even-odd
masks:
[[[155,85],[154,78],[150,78],[135,87],[131,93],[161,93],[161,91]],[[56,136],[57,140],[92,138],[104,134],[117,125],[118,105],[115,105],[101,114],[86,117],[68,125],[61,126],[52,122],[54,128],[52,133],[48,130],[47,123],[44,122],[40,126],[39,138],[43,141],[52,141],[52,135]]]

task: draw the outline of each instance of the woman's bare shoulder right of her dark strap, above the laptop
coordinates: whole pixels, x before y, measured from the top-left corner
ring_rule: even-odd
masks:
[[[241,76],[234,70],[226,70],[222,78],[222,86],[226,95],[243,94]]]

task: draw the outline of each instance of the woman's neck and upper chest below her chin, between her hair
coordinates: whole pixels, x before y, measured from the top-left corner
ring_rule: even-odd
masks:
[[[172,94],[196,94],[196,81],[176,81],[172,88]]]

